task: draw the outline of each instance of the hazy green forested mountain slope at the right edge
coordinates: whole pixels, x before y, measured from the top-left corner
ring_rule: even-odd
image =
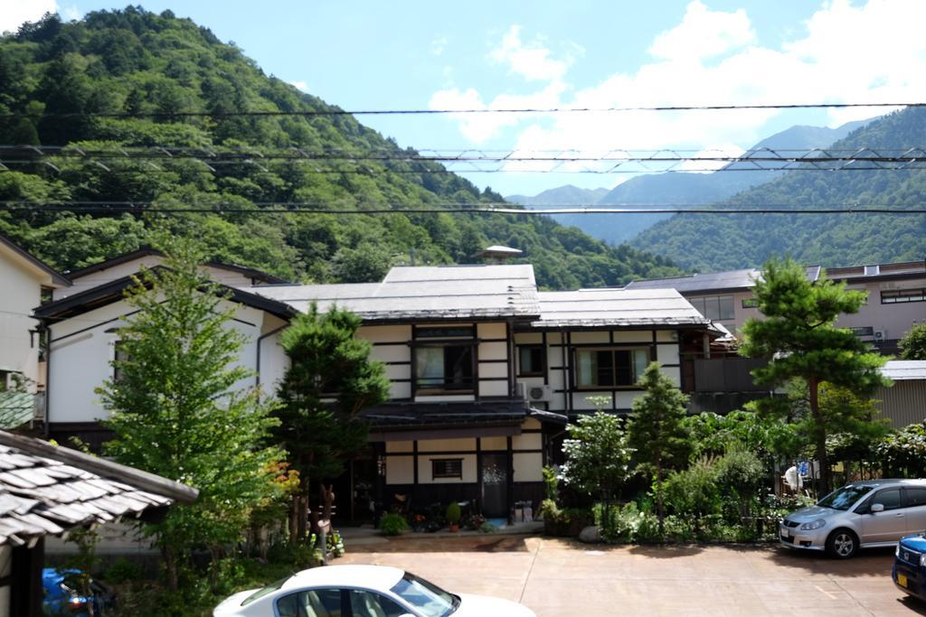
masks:
[[[874,120],[832,148],[926,146],[926,109],[907,108]],[[926,170],[792,171],[733,196],[732,206],[879,206],[926,204]],[[762,264],[790,254],[805,264],[857,265],[922,259],[923,215],[676,215],[633,244],[702,271]]]

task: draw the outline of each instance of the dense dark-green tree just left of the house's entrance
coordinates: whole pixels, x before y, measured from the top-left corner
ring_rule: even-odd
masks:
[[[344,473],[345,463],[367,445],[367,424],[358,414],[389,399],[385,365],[369,360],[372,346],[355,336],[359,327],[357,315],[334,306],[322,314],[313,303],[281,336],[290,366],[280,383],[274,437],[299,473],[291,541],[307,535],[311,482]]]

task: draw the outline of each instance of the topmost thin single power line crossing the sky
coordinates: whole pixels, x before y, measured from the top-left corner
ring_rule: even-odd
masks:
[[[352,109],[336,107],[310,110],[244,110],[244,111],[150,111],[150,112],[45,112],[42,114],[6,113],[0,118],[44,117],[288,117],[288,116],[407,116],[448,114],[562,114],[562,113],[624,113],[637,111],[735,111],[750,109],[845,109],[851,107],[921,107],[926,103],[786,103],[768,105],[629,105],[612,107],[519,107],[463,109]]]

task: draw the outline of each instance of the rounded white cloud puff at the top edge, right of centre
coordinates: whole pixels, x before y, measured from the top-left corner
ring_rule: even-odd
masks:
[[[694,0],[685,9],[685,17],[675,28],[662,32],[649,48],[653,56],[702,60],[719,56],[732,49],[754,43],[752,29],[744,9],[732,13],[711,11]]]

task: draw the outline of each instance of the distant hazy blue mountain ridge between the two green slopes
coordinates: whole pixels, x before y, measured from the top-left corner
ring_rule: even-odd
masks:
[[[808,150],[811,148],[825,148],[837,142],[853,130],[857,130],[870,120],[857,120],[848,122],[835,129],[827,127],[812,127],[796,125],[790,129],[782,130],[752,146],[748,153],[762,149]],[[598,205],[626,205],[640,204],[652,206],[672,206],[689,204],[710,204],[728,199],[738,192],[746,191],[752,187],[764,184],[782,176],[782,171],[768,171],[756,169],[754,164],[734,163],[720,171],[709,174],[667,172],[662,174],[649,174],[637,176],[622,182],[597,201],[570,201],[574,200],[575,191],[584,191],[567,185],[544,191],[533,197],[524,195],[510,195],[509,201],[532,205],[566,205],[566,204],[598,204]],[[569,190],[569,191],[567,191]],[[563,196],[562,201],[556,201]],[[637,234],[665,220],[671,215],[641,214],[641,215],[554,215],[554,219],[563,225],[578,227],[601,240],[619,244],[630,241]]]

